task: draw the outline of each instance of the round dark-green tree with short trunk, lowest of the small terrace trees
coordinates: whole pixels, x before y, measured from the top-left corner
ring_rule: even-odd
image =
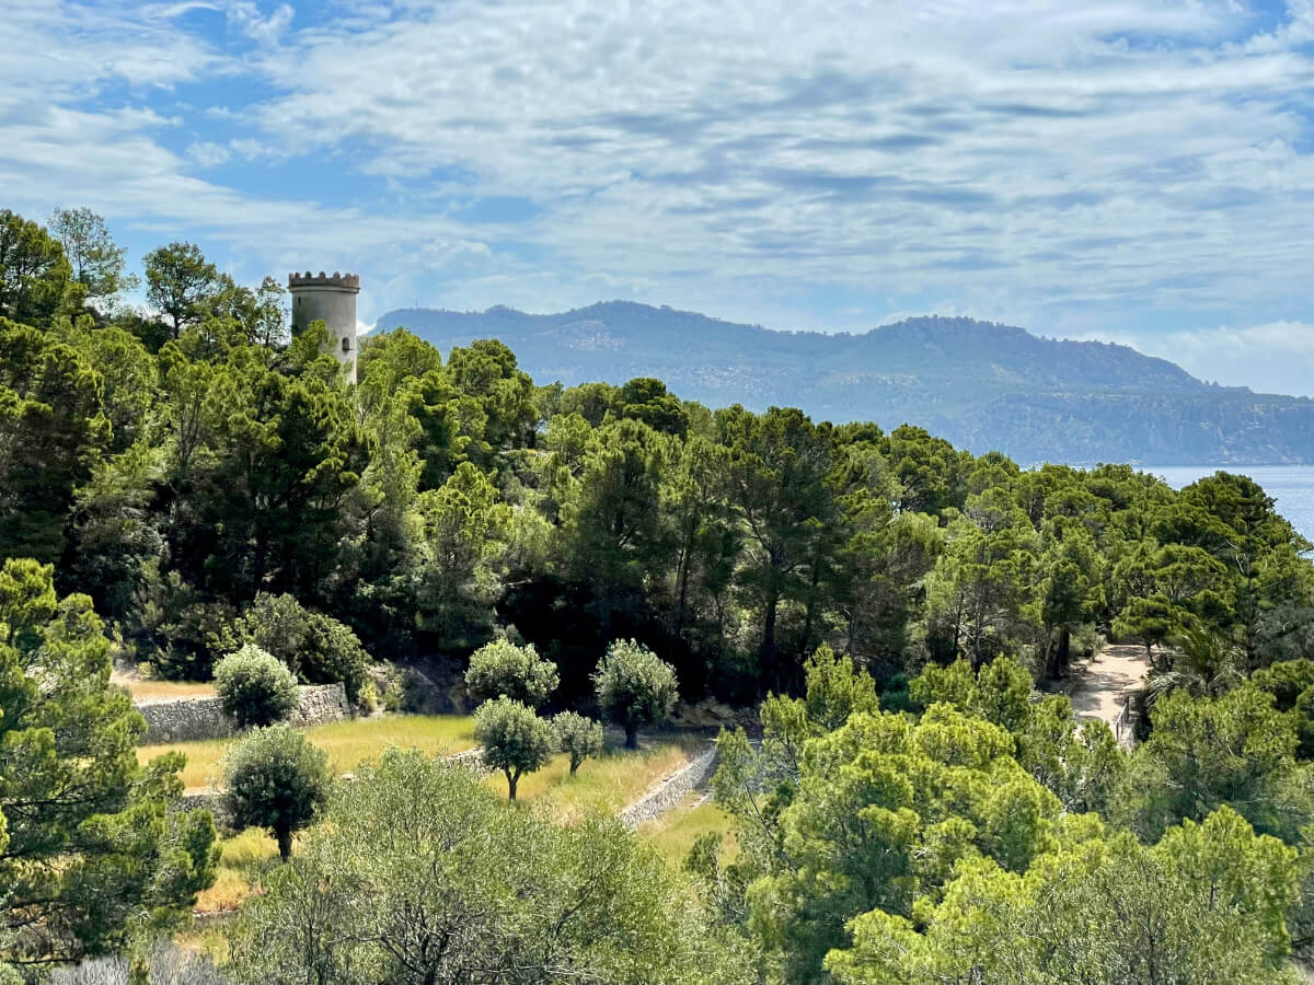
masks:
[[[328,756],[288,725],[256,729],[225,756],[225,800],[238,827],[264,827],[292,858],[292,835],[328,799]]]

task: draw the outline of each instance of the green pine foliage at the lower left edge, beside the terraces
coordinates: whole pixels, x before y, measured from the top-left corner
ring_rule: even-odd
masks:
[[[109,683],[91,602],[49,566],[0,567],[0,961],[108,953],[189,918],[214,877],[214,825],[171,810],[181,756],[145,767],[146,729]]]

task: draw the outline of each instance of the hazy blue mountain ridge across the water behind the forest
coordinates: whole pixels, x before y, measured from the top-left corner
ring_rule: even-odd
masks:
[[[1020,461],[1314,461],[1314,401],[1208,385],[1125,345],[1043,339],[967,318],[861,335],[781,332],[612,301],[548,315],[401,309],[444,352],[497,338],[539,382],[658,377],[708,406],[803,407],[815,418],[911,422]]]

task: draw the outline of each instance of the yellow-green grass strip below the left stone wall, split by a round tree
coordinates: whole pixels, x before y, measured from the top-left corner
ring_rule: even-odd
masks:
[[[378,755],[388,746],[417,747],[432,753],[460,753],[474,747],[474,720],[460,714],[388,714],[380,718],[357,718],[306,729],[306,735],[328,754],[334,772],[350,772],[356,764]],[[234,739],[214,742],[175,742],[139,746],[137,758],[146,762],[160,753],[179,750],[187,755],[183,784],[189,789],[215,785],[219,760]]]

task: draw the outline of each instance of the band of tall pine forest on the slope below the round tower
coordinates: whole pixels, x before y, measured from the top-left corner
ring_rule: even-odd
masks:
[[[494,340],[444,360],[405,330],[364,340],[348,387],[272,281],[175,243],[146,259],[147,317],[106,301],[122,251],[70,231],[99,219],[62,215],[0,223],[0,540],[164,675],[206,679],[283,595],[374,657],[514,628],[566,700],[616,638],[686,699],[749,701],[821,644],[897,688],[955,657],[1062,674],[1101,628],[1202,633],[1248,672],[1314,625],[1309,545],[1238,475],[1175,492],[657,380],[537,386]]]

